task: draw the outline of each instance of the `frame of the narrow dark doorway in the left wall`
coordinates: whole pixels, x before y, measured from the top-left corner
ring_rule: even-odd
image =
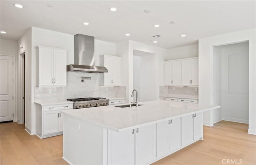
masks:
[[[23,77],[24,77],[24,72],[26,72],[26,65],[24,66],[26,60],[26,50],[22,51],[19,53],[19,85],[18,85],[18,90],[19,90],[19,109],[18,111],[20,112],[20,119],[18,121],[19,124],[24,124],[24,113],[25,113],[25,109],[23,110],[23,107],[25,108],[25,105],[26,105],[26,102],[24,101],[24,105],[22,104],[22,101],[23,101],[23,96],[26,96],[26,90],[24,89],[24,93],[23,93],[23,88],[24,88],[24,82],[23,82]],[[24,57],[23,57],[24,56]],[[23,62],[23,59],[24,59],[24,62]],[[23,69],[24,68],[24,69]],[[25,84],[26,84],[26,79],[25,79]]]

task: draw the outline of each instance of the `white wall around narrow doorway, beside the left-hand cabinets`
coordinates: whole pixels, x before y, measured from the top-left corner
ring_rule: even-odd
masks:
[[[20,48],[20,44],[23,44],[23,48]],[[32,45],[32,29],[30,28],[19,40],[18,40],[18,65],[17,68],[19,70],[18,72],[18,111],[21,111],[22,107],[22,97],[20,97],[22,92],[22,70],[21,64],[22,64],[22,57],[20,54],[22,52],[25,52],[25,129],[32,133],[32,109],[31,109],[31,95],[32,95],[32,77],[31,77],[31,59],[32,59],[32,52],[31,52],[31,45]],[[21,120],[21,116],[18,116]],[[21,122],[22,123],[22,122]]]

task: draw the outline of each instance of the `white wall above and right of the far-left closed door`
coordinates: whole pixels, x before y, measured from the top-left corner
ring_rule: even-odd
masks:
[[[14,113],[14,118],[13,121],[17,121],[17,117],[18,115],[18,99],[17,99],[17,41],[14,40],[5,40],[5,39],[1,39],[0,40],[0,54],[1,55],[8,55],[8,56],[12,56],[13,60],[14,60],[14,109],[13,109],[13,113]],[[19,121],[19,118],[18,118]]]

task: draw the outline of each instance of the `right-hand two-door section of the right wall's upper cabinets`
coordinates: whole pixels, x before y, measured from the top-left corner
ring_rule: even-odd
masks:
[[[182,60],[182,85],[198,85],[198,58]]]

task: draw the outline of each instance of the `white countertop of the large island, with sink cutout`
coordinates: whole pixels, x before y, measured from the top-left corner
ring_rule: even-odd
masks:
[[[146,101],[139,104],[143,105],[124,108],[108,105],[68,109],[61,111],[61,113],[113,131],[122,132],[220,107],[219,105],[200,105],[163,100]]]

